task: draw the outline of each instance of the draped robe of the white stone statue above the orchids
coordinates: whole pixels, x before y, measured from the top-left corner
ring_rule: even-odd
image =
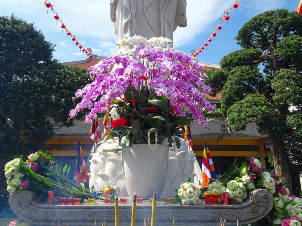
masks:
[[[187,26],[186,6],[186,0],[110,0],[117,43],[134,35],[173,40],[173,31]]]

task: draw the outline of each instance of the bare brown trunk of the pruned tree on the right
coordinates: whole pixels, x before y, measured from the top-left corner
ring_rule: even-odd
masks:
[[[284,143],[280,141],[277,132],[272,128],[266,129],[266,136],[268,143],[271,146],[271,157],[274,162],[276,174],[278,174],[280,179],[284,182],[291,177],[287,164],[288,158],[286,156]],[[287,187],[292,193],[291,179],[288,180],[285,187]]]

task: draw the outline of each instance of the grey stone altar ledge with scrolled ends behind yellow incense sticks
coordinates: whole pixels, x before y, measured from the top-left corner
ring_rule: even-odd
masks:
[[[265,189],[255,189],[252,196],[238,205],[169,205],[159,199],[156,202],[156,225],[171,226],[174,218],[175,225],[219,225],[220,218],[225,219],[225,225],[250,224],[267,215],[273,207],[274,199]],[[47,205],[38,202],[36,193],[29,190],[20,190],[13,193],[9,205],[14,213],[24,221],[34,225],[61,225],[66,222],[69,226],[114,225],[114,203],[106,205],[104,202],[89,205],[87,202],[79,206]],[[152,205],[149,200],[137,204],[136,225],[144,224],[144,217],[150,215]],[[127,204],[119,202],[119,224],[131,225],[132,199]]]

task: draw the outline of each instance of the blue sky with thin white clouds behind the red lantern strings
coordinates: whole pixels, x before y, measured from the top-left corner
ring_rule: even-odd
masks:
[[[110,20],[109,0],[62,1],[50,0],[53,8],[70,32],[76,36],[79,43],[92,53],[99,56],[109,56],[116,51],[114,25]],[[174,48],[190,53],[198,49],[209,39],[210,34],[220,22],[223,11],[229,11],[236,0],[187,1],[187,20],[185,28],[178,27],[173,34]],[[220,59],[240,47],[234,37],[240,28],[255,15],[277,8],[287,8],[294,11],[300,0],[239,0],[239,7],[232,9],[228,25],[223,22],[219,34],[207,50],[198,56],[198,61],[219,64]],[[79,49],[68,39],[61,24],[56,24],[54,14],[47,8],[43,0],[0,0],[0,15],[16,17],[34,22],[47,41],[55,44],[54,58],[60,62],[83,60]],[[1,34],[0,34],[1,35]]]

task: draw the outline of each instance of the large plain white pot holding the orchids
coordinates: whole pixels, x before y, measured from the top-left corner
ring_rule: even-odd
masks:
[[[167,145],[157,144],[155,150],[149,149],[148,144],[122,148],[122,171],[129,197],[136,191],[144,200],[154,192],[159,198],[165,187],[167,170]]]

